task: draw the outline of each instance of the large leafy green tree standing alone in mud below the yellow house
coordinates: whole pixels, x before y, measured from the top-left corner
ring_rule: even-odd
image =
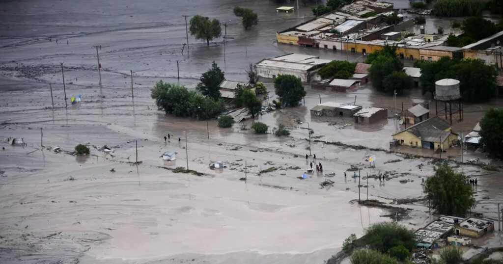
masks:
[[[438,214],[464,216],[475,205],[473,190],[463,173],[446,163],[435,167],[435,175],[425,182],[426,199]]]

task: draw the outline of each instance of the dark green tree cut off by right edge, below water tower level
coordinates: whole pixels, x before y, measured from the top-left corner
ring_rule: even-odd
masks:
[[[493,157],[503,158],[503,109],[490,108],[480,120],[480,143]]]

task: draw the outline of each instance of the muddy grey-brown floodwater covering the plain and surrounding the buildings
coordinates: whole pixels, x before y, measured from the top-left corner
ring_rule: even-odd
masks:
[[[178,81],[177,60],[180,82],[193,87],[213,60],[227,79],[244,80],[246,65],[265,57],[289,52],[346,57],[275,44],[275,32],[299,23],[304,13],[309,16],[309,7],[301,6],[298,14],[277,14],[274,2],[243,1],[239,5],[253,8],[261,20],[257,28],[244,32],[232,16],[235,5],[228,0],[0,4],[4,25],[0,29],[0,138],[18,137],[27,143],[2,143],[0,262],[322,263],[340,250],[349,234],[361,235],[369,224],[391,220],[384,217],[387,212],[359,207],[351,200],[367,199],[367,194],[384,202],[422,196],[421,178],[433,173],[430,159],[314,142],[388,149],[390,135],[401,129],[393,119],[343,127],[351,121],[314,118],[309,113],[319,100],[348,103],[355,96],[357,104],[391,109],[391,99],[369,86],[349,94],[306,87],[305,103],[258,117],[271,129],[287,124],[291,137],[255,135],[242,130],[241,124],[221,129],[213,120],[207,131],[204,121],[156,111],[150,87],[158,79]],[[233,39],[226,43],[225,61],[221,39],[208,48],[190,37],[190,57],[186,50],[181,53],[186,42],[184,14],[205,14],[227,22],[227,35]],[[96,45],[101,45],[101,86]],[[82,98],[68,108],[61,61],[66,96]],[[273,86],[265,81],[273,100]],[[409,107],[425,100],[412,91],[396,105],[400,108],[403,102]],[[468,106],[465,109],[472,109],[468,111],[472,116],[455,126],[469,131],[489,105]],[[297,178],[310,162],[304,158],[309,152],[306,121],[314,130],[311,151],[316,162],[323,164],[325,173],[336,173],[332,187],[320,187],[323,173]],[[250,122],[244,123],[246,128]],[[168,133],[171,142],[164,142]],[[50,149],[59,146],[71,151],[78,143],[89,144],[91,155],[75,157]],[[112,155],[98,150],[105,144],[115,149]],[[176,152],[177,159],[162,161],[166,151]],[[365,161],[369,155],[377,158],[375,168]],[[141,164],[132,164],[136,158]],[[387,163],[396,159],[400,161]],[[210,169],[215,160],[224,161],[226,167]],[[419,169],[422,163],[425,166]],[[205,174],[164,168],[187,165]],[[344,178],[343,171],[351,165],[362,168],[361,179],[351,178],[349,171]],[[277,170],[259,173],[270,167]],[[456,169],[479,179],[477,191],[483,195],[478,199],[485,193],[500,199],[498,173],[487,174],[473,165]],[[364,178],[380,171],[393,173],[393,178],[381,183]],[[246,183],[239,180],[242,177]],[[402,179],[410,181],[400,183]],[[369,188],[359,189],[359,184]],[[420,226],[430,219],[424,205],[410,207],[414,219],[404,224]]]

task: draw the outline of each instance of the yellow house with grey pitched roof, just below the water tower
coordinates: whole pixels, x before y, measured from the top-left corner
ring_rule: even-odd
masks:
[[[400,145],[448,149],[458,141],[458,135],[452,133],[451,124],[435,116],[394,134],[393,139]]]

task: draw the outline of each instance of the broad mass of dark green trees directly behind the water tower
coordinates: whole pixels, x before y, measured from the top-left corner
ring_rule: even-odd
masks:
[[[414,67],[421,68],[423,94],[435,92],[435,82],[443,78],[460,81],[464,101],[485,102],[496,93],[496,70],[480,60],[442,57],[437,61],[418,60]]]

